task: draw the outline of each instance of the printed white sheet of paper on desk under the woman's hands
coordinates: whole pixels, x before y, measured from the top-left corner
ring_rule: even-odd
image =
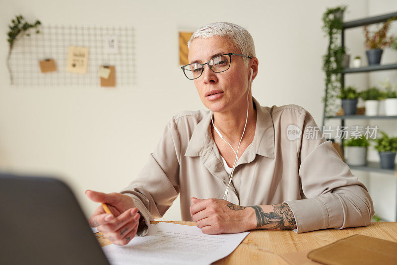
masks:
[[[111,265],[211,264],[232,253],[249,233],[206,235],[196,226],[158,223],[126,246],[102,250]]]

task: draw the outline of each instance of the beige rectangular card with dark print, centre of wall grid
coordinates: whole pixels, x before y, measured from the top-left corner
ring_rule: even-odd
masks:
[[[66,71],[69,73],[85,74],[88,65],[88,48],[69,46]]]

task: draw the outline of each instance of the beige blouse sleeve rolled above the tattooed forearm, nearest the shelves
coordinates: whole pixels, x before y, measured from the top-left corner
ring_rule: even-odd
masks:
[[[300,125],[302,135],[297,147],[303,199],[284,201],[295,216],[297,228],[294,231],[302,233],[370,224],[375,213],[365,185],[351,173],[331,141],[321,139],[321,132],[317,137],[311,134],[316,131],[313,128],[317,124],[305,109],[300,113]]]

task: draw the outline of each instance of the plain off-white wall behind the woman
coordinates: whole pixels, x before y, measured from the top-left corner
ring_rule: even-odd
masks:
[[[43,24],[128,25],[136,30],[137,85],[133,87],[15,88],[9,86],[5,66],[0,66],[0,169],[63,177],[87,216],[97,204],[86,199],[85,189],[123,188],[143,167],[173,114],[204,108],[178,65],[179,30],[194,31],[215,21],[246,27],[260,62],[253,95],[262,105],[301,105],[321,125],[322,56],[328,41],[321,16],[326,7],[341,3],[349,5],[345,20],[368,15],[368,1],[362,0],[0,2],[4,38],[5,25],[16,14]],[[389,12],[389,6],[397,9],[393,1],[369,3],[374,10],[384,6],[381,12]],[[364,56],[361,41],[346,38],[346,42]],[[5,60],[7,43],[0,45]],[[167,62],[169,71],[154,73],[150,64],[156,61]],[[366,79],[352,80],[366,84]],[[180,219],[178,202],[164,218]]]

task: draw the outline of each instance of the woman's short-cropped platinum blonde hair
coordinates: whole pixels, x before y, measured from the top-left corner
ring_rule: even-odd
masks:
[[[200,27],[188,41],[188,49],[190,49],[193,40],[214,36],[228,37],[240,49],[241,54],[255,57],[255,45],[251,34],[242,26],[228,22],[215,22]],[[250,58],[244,57],[243,60],[245,66],[248,66]]]

